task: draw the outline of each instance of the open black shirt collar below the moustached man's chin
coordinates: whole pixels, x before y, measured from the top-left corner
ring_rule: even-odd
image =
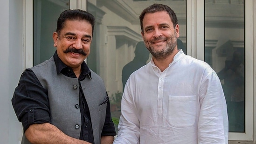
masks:
[[[57,51],[55,51],[55,53],[53,55],[53,58],[54,58],[54,62],[55,62],[55,65],[56,65],[57,75],[59,75],[60,73],[64,72],[66,69],[71,69],[70,67],[68,67],[67,65],[65,65],[62,62],[62,60],[57,55]],[[87,66],[87,64],[85,62],[83,62],[81,64],[81,69],[82,69],[81,75],[88,75],[90,77],[90,79],[91,79],[90,69],[89,69],[89,67]]]

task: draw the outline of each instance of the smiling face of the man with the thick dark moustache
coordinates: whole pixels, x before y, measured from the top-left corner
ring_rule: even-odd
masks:
[[[90,54],[91,24],[84,20],[67,20],[60,34],[53,33],[53,39],[62,62],[72,69],[80,69],[82,62]]]

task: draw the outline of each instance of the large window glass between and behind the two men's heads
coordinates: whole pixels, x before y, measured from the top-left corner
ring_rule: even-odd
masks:
[[[154,3],[166,4],[176,13],[180,25],[178,49],[186,54],[186,0],[97,0],[97,4],[87,0],[88,12],[96,17],[87,64],[104,80],[116,130],[125,82],[151,59],[138,17]]]

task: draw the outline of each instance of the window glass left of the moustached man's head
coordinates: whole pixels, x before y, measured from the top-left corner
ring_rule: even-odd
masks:
[[[55,52],[52,34],[62,11],[69,9],[69,0],[34,0],[34,58],[37,65],[49,59]]]

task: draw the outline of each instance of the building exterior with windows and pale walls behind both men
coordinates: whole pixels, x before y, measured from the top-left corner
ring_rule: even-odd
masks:
[[[25,68],[53,55],[57,17],[69,8],[96,17],[86,62],[103,78],[112,117],[118,119],[122,69],[137,55],[136,44],[142,41],[138,16],[153,3],[169,5],[177,14],[182,45],[178,43],[178,48],[208,62],[218,73],[230,110],[229,144],[256,144],[256,0],[1,0],[0,143],[21,143],[22,126],[11,105],[14,89]],[[243,81],[235,81],[240,90],[235,94],[242,97],[234,100],[229,93],[236,87],[221,74],[236,54]]]

